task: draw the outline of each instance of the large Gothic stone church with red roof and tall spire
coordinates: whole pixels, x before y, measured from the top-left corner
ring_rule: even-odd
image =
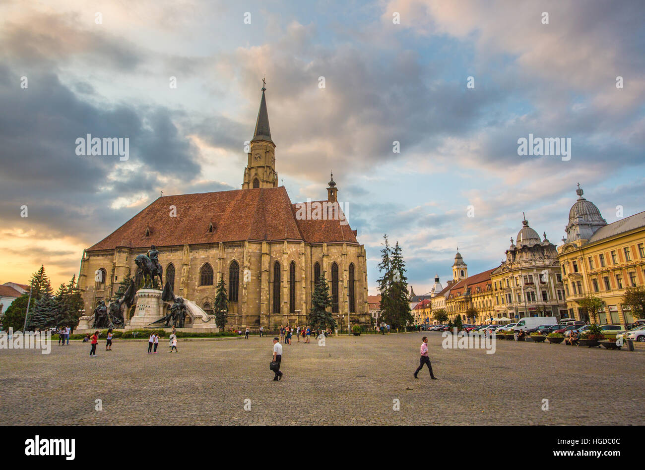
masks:
[[[135,257],[154,244],[164,284],[207,313],[224,279],[227,327],[304,324],[323,274],[339,323],[369,323],[366,253],[344,219],[336,183],[329,182],[326,201],[303,203],[306,210],[292,204],[277,184],[262,91],[242,189],[159,197],[85,250],[79,287],[86,312],[134,276]]]

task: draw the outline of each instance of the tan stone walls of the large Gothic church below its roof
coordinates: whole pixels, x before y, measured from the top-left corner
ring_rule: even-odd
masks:
[[[352,324],[368,323],[366,256],[363,246],[346,243],[310,245],[299,241],[280,242],[231,242],[205,245],[184,245],[157,247],[159,262],[163,267],[163,282],[170,263],[175,267],[174,292],[195,304],[213,306],[217,282],[224,277],[227,291],[230,291],[229,268],[233,260],[239,264],[239,295],[237,302],[229,302],[229,316],[226,328],[252,329],[263,325],[273,328],[281,324],[304,324],[311,305],[313,292],[313,266],[321,265],[327,281],[332,278],[332,263],[339,266],[339,314],[345,315],[347,327],[349,310],[348,282],[349,266],[355,268],[355,312],[349,313]],[[86,253],[81,260],[79,286],[83,289],[86,314],[91,315],[98,300],[107,300],[118,288],[119,282],[127,275],[134,276],[137,266],[134,258],[144,253],[144,248],[130,250],[116,248],[112,251]],[[281,267],[280,314],[273,315],[273,266]],[[290,312],[289,273],[291,262],[295,263],[295,310]],[[204,264],[213,268],[213,285],[200,286],[200,273]],[[107,279],[103,286],[95,282],[97,269],[105,269]],[[250,270],[250,279],[244,282],[244,270]],[[115,279],[116,277],[116,279]],[[103,287],[101,289],[101,287]],[[336,314],[334,314],[336,315]]]

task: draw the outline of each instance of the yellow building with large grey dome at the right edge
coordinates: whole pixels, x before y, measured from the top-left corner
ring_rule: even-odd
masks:
[[[600,210],[582,195],[569,210],[566,238],[557,248],[566,290],[568,315],[576,320],[600,324],[633,322],[631,307],[622,304],[628,287],[645,284],[645,212],[624,217],[611,224]],[[606,304],[597,318],[580,307],[588,295]]]

